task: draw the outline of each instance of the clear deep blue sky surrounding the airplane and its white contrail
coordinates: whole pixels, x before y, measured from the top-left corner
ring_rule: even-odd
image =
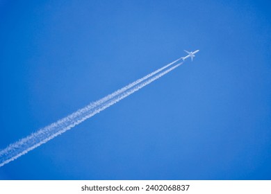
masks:
[[[0,179],[271,179],[269,1],[1,1],[0,148],[199,49]]]

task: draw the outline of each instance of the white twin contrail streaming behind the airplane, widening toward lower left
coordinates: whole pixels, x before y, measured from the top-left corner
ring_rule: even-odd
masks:
[[[100,100],[95,101],[94,103],[90,103],[89,105],[83,107],[82,109],[77,110],[76,112],[62,118],[47,127],[44,127],[29,136],[26,136],[24,139],[20,139],[19,141],[8,145],[7,148],[0,151],[0,167],[8,164],[10,161],[17,159],[18,157],[25,155],[30,150],[37,148],[38,146],[46,143],[47,141],[54,139],[54,137],[63,134],[67,130],[70,130],[75,125],[79,125],[86,119],[94,116],[95,114],[101,112],[102,110],[114,105],[119,102],[123,98],[133,94],[138,91],[142,87],[149,85],[154,80],[161,78],[166,73],[169,73],[176,67],[179,67],[183,62],[179,64],[175,64],[181,60],[181,58],[171,62],[170,64],[157,69],[156,71],[149,73],[147,76],[132,82],[122,89],[118,89],[117,91],[109,94],[108,96],[101,98]],[[174,66],[172,66],[175,64]],[[170,67],[172,66],[172,67]],[[170,67],[169,69],[167,69]]]

